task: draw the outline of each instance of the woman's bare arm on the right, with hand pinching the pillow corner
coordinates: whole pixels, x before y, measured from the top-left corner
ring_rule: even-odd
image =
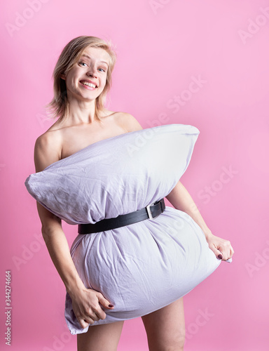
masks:
[[[198,207],[193,201],[191,195],[180,181],[166,198],[168,201],[170,201],[174,208],[188,213],[188,215],[193,218],[195,223],[197,223],[202,229],[202,232],[204,232],[209,248],[212,249],[217,257],[222,260],[228,260],[233,256],[234,251],[230,241],[221,239],[212,234],[209,227],[207,227],[205,224],[205,220],[202,218],[201,213],[199,212]]]

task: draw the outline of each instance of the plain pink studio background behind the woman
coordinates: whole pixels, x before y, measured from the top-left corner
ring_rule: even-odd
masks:
[[[34,173],[34,142],[53,123],[43,106],[55,62],[68,41],[94,35],[118,53],[110,110],[130,112],[144,128],[200,130],[181,181],[235,250],[233,263],[184,297],[185,350],[268,350],[268,1],[6,0],[0,13],[1,349],[11,270],[12,350],[76,350],[64,284],[24,182]],[[76,227],[64,230],[71,244]],[[149,350],[141,318],[125,322],[118,350]]]

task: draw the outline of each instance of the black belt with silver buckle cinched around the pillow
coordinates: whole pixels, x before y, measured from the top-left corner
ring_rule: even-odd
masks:
[[[104,232],[105,230],[111,230],[125,225],[137,223],[141,220],[153,219],[165,211],[165,200],[160,199],[140,210],[120,215],[116,218],[104,218],[97,223],[79,224],[79,234],[90,234],[97,232]]]

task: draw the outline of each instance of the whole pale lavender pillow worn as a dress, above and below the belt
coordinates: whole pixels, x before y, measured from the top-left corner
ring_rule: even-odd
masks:
[[[198,134],[194,126],[169,124],[117,135],[30,175],[25,185],[69,224],[114,218],[166,197],[186,171]],[[221,263],[191,216],[170,206],[152,220],[78,234],[70,252],[83,284],[115,306],[100,304],[106,318],[82,329],[66,293],[71,334],[169,305]]]

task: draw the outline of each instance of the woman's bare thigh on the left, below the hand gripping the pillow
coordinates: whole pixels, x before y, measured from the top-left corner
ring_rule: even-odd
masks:
[[[78,351],[116,351],[124,321],[89,326],[77,335]]]

